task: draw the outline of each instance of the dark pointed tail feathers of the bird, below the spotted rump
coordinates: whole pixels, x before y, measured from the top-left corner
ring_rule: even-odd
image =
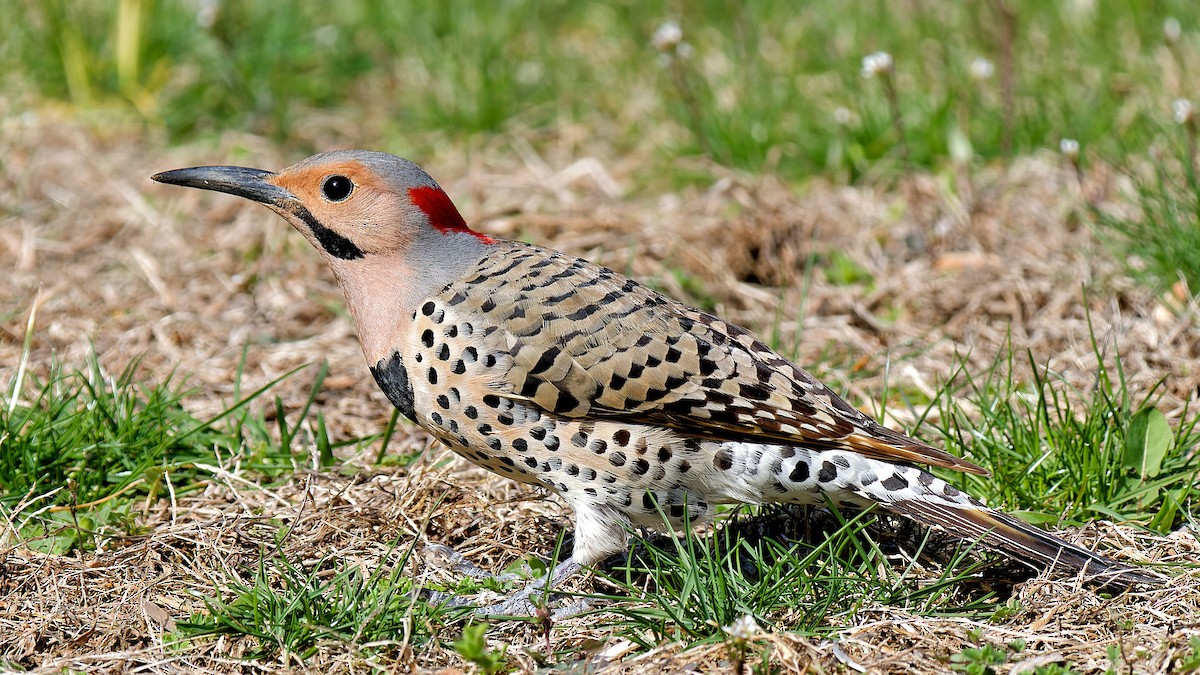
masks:
[[[962,507],[914,500],[899,500],[884,506],[924,525],[946,530],[956,537],[978,540],[988,549],[1038,569],[1082,573],[1088,580],[1102,586],[1121,589],[1163,583],[1157,577],[1114,562],[1018,518],[986,507]]]

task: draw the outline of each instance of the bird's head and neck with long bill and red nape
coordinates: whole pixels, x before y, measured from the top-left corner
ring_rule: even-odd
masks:
[[[494,244],[467,227],[421,167],[385,153],[324,153],[278,173],[206,166],[152,178],[244,197],[283,216],[334,269],[360,339],[365,331],[372,339],[390,331],[414,303],[454,281]]]

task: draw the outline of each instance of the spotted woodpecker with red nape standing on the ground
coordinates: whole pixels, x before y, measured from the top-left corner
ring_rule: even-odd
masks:
[[[635,527],[678,531],[738,503],[882,507],[1038,569],[1157,580],[935,476],[988,471],[883,426],[750,330],[586,259],[472,229],[402,157],[340,150],[280,172],[152,179],[282,216],[329,263],[400,413],[570,506],[570,557],[505,609],[626,550]]]

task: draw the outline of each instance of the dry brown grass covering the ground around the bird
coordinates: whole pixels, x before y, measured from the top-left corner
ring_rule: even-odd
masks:
[[[238,136],[216,149],[164,149],[53,117],[2,124],[0,382],[11,378],[41,288],[31,364],[43,375],[52,358],[79,364],[89,350],[110,371],[140,354],[144,377],[186,374],[197,388],[187,405],[212,413],[230,398],[248,344],[244,390],[325,358],[330,376],[318,405],[330,434],[344,438],[384,425],[389,406],[367,377],[337,288],[307,244],[263,209],[148,179],[178,166],[245,159],[270,168],[298,157]],[[1032,350],[1086,390],[1094,381],[1088,316],[1103,344],[1120,345],[1135,393],[1164,381],[1162,406],[1172,418],[1200,387],[1195,300],[1156,298],[1123,277],[1074,216],[1079,187],[1052,157],[982,169],[959,186],[967,198],[932,177],[892,189],[812,183],[796,190],[715,168],[708,189],[625,198],[618,186],[636,160],[576,163],[570,151],[539,157],[520,139],[512,147],[518,151],[498,148],[469,163],[448,155],[428,168],[468,221],[488,233],[564,249],[686,297],[671,274],[682,270],[702,282],[718,313],[761,330],[772,330],[784,307],[780,342],[791,345],[803,331],[800,363],[859,406],[870,408],[884,390],[889,358],[899,364],[888,375],[893,387],[931,392],[955,354],[986,368],[1009,335],[1018,350]],[[1093,198],[1118,201],[1116,178],[1096,171],[1088,179]],[[834,286],[820,273],[803,283],[808,255],[832,250],[865,268],[874,288]],[[1082,286],[1091,288],[1086,305]],[[312,377],[304,371],[274,390],[288,412],[302,404]],[[898,406],[889,413],[893,423],[911,422]],[[408,429],[401,441],[428,443]],[[5,533],[0,658],[47,673],[460,668],[448,649],[376,663],[330,645],[305,663],[260,663],[239,659],[245,640],[182,650],[162,643],[175,621],[203,609],[198,595],[252,573],[260,551],[276,546],[270,522],[290,527],[282,548],[294,560],[334,555],[365,569],[388,565],[388,544],[413,531],[496,569],[526,551],[548,551],[569,524],[553,500],[466,462],[436,467],[440,450],[425,456],[408,471],[376,470],[368,449],[346,458],[356,472],[299,471],[270,489],[222,467],[202,492],[148,504],[139,516],[144,536],[113,539],[96,552],[37,554]],[[1072,536],[1104,539],[1132,560],[1200,560],[1188,530],[1152,537],[1099,524]],[[420,561],[413,567],[431,573]],[[1195,571],[1164,590],[1111,599],[1073,580],[1037,579],[1016,593],[1021,609],[992,623],[874,607],[848,619],[838,643],[794,634],[762,641],[772,644],[772,668],[781,673],[946,671],[948,656],[973,644],[973,629],[991,644],[1027,640],[1022,658],[1103,671],[1105,649],[1118,645],[1130,671],[1165,673],[1200,634]],[[506,625],[497,638],[512,645],[521,668],[535,667],[524,649],[544,650],[540,632],[527,625]],[[593,620],[563,621],[552,639],[556,650],[586,646],[580,658],[590,661],[580,668],[588,671],[731,670],[724,646],[664,645],[635,655]]]

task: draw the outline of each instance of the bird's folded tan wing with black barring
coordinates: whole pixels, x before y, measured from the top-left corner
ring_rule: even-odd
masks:
[[[845,448],[888,461],[986,471],[877,424],[750,331],[578,258],[508,243],[511,256],[449,286],[449,311],[497,327],[498,393],[570,418],[691,436]],[[487,283],[503,270],[504,282]],[[514,276],[518,279],[514,281]],[[472,292],[484,283],[492,291]],[[460,287],[462,286],[462,287]]]

